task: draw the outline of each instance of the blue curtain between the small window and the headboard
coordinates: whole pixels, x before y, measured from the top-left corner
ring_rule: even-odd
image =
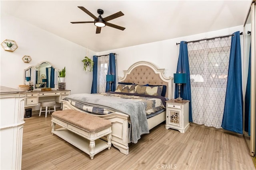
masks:
[[[111,92],[116,90],[116,57],[114,53],[109,54],[108,74],[114,75],[114,82],[111,83]],[[106,92],[109,91],[110,82],[106,83]]]

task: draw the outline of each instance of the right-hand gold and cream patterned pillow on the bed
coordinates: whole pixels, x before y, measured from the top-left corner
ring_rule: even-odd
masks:
[[[151,96],[161,96],[162,90],[163,90],[163,86],[151,87],[151,86],[140,86],[140,85],[137,85],[135,87],[134,93],[147,94],[147,95],[151,95]]]

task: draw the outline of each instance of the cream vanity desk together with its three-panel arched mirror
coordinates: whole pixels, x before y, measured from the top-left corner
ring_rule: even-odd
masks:
[[[25,107],[38,106],[40,102],[52,101],[61,103],[60,100],[70,95],[70,90],[58,90],[58,72],[49,61],[42,61],[35,66],[24,69],[23,84],[32,86],[34,91],[26,92]],[[50,91],[42,91],[51,88]]]

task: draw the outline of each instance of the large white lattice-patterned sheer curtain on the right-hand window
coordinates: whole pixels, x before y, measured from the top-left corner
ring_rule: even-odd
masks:
[[[194,123],[221,128],[230,45],[230,37],[188,43]]]

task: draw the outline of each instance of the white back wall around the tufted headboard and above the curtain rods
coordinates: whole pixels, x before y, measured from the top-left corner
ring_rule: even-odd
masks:
[[[102,51],[100,53],[97,53],[97,55],[104,55],[108,53],[117,54],[117,76],[124,76],[123,70],[127,70],[129,66],[133,63],[136,63],[138,61],[149,61],[151,63],[154,63],[159,68],[165,68],[165,76],[169,77],[173,76],[173,74],[176,73],[180,48],[180,46],[176,45],[176,43],[180,43],[180,41],[193,41],[222,35],[230,35],[236,31],[242,32],[243,25],[221,29],[218,31],[190,35],[186,37],[168,39],[165,41],[158,41],[154,43],[136,45],[121,49],[113,49],[110,51]],[[243,35],[240,35],[240,39],[242,49],[241,52],[243,56]]]

